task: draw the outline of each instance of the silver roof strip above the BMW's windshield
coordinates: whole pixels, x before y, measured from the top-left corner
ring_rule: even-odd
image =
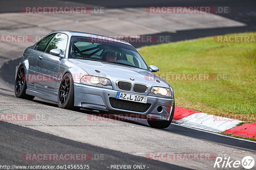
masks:
[[[78,31],[65,31],[65,30],[54,31],[54,32],[70,32],[72,34],[72,36],[82,36],[82,37],[93,36],[93,38],[104,39],[104,40],[107,39],[108,41],[119,42],[119,43],[123,43],[123,44],[127,44],[127,45],[132,46],[130,43],[128,43],[126,41],[123,41],[123,40],[120,40],[120,39],[115,39],[115,38],[104,36],[104,35],[92,34],[92,33],[87,33],[87,32],[78,32]]]

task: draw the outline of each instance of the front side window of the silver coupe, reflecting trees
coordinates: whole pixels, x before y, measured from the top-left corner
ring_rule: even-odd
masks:
[[[50,53],[52,49],[59,49],[61,55],[65,52],[68,42],[68,36],[63,33],[57,33],[52,39],[48,47],[46,48],[45,53]]]

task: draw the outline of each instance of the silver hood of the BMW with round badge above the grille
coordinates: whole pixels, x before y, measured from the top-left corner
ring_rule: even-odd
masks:
[[[169,88],[169,85],[163,79],[147,70],[100,61],[80,59],[68,60],[83,68],[89,75],[108,78],[113,85],[117,80],[123,80],[132,83],[146,84],[148,85],[148,88],[154,86]],[[134,80],[131,80],[130,78]],[[113,89],[116,89],[116,87],[113,86]]]

